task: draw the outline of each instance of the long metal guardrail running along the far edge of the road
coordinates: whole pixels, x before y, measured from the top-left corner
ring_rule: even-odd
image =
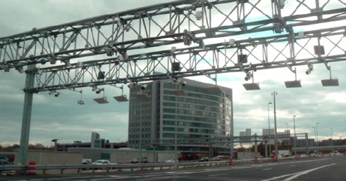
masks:
[[[294,157],[285,157],[279,158],[279,160],[285,159],[294,159]],[[258,162],[267,162],[272,161],[271,158],[258,159]],[[233,160],[233,164],[240,163],[254,163],[254,159],[242,159],[242,160]],[[63,174],[64,170],[75,169],[77,173],[80,173],[81,170],[92,170],[94,173],[95,170],[134,170],[144,168],[186,168],[192,166],[222,166],[228,165],[229,161],[205,161],[205,162],[185,162],[185,163],[121,163],[121,164],[112,164],[112,165],[37,165],[36,170],[42,170],[43,174],[47,170],[60,170],[60,173]],[[0,174],[6,173],[8,171],[25,171],[28,170],[29,166],[0,166]]]

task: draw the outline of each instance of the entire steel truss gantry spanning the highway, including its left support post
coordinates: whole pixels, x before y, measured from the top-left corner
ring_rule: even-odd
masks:
[[[2,37],[0,70],[27,74],[19,162],[33,93],[315,63],[330,70],[345,60],[345,14],[345,0],[181,0]]]

